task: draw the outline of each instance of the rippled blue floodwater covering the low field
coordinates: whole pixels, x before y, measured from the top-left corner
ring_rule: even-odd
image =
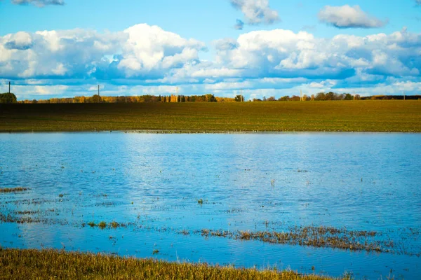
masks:
[[[420,144],[421,134],[0,134],[0,188],[31,188],[0,194],[0,211],[41,220],[0,223],[0,244],[417,279]],[[101,230],[91,221],[131,225]],[[295,225],[372,230],[401,250],[194,233]]]

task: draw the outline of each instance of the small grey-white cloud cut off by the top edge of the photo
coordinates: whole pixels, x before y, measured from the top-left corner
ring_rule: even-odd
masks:
[[[234,8],[241,10],[249,25],[271,25],[279,21],[276,10],[269,6],[269,0],[229,0]],[[236,29],[243,29],[243,22],[237,20]]]

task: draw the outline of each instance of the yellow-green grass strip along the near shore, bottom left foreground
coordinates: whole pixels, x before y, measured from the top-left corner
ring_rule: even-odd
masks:
[[[331,279],[275,269],[236,269],[55,250],[0,248],[1,279]],[[344,278],[347,279],[347,278]]]

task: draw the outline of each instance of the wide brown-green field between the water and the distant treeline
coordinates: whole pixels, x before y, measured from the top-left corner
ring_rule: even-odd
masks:
[[[0,132],[421,132],[418,100],[0,104]]]

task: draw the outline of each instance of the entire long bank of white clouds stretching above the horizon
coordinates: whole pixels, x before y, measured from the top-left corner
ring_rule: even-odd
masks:
[[[300,88],[314,93],[381,87],[387,94],[401,86],[419,93],[421,83],[421,34],[405,28],[333,38],[260,30],[213,41],[212,48],[215,56],[201,59],[201,41],[145,24],[105,33],[18,32],[0,36],[0,77],[27,85],[33,94],[73,90],[70,96],[86,94],[89,87],[82,87],[98,80],[106,83],[107,94],[164,94],[178,86],[183,94],[243,90],[246,97],[279,97]],[[44,86],[51,87],[43,91]]]

